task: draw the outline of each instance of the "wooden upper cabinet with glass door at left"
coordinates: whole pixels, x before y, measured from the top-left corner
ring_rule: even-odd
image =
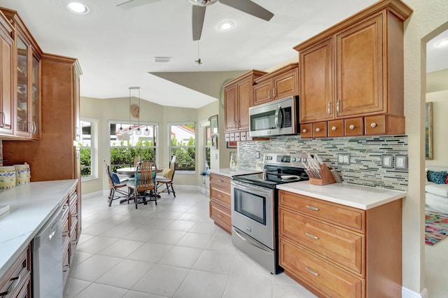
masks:
[[[13,26],[13,102],[15,139],[41,138],[42,51],[15,10],[0,8]],[[4,66],[2,66],[3,68]],[[4,71],[4,70],[3,70]]]

